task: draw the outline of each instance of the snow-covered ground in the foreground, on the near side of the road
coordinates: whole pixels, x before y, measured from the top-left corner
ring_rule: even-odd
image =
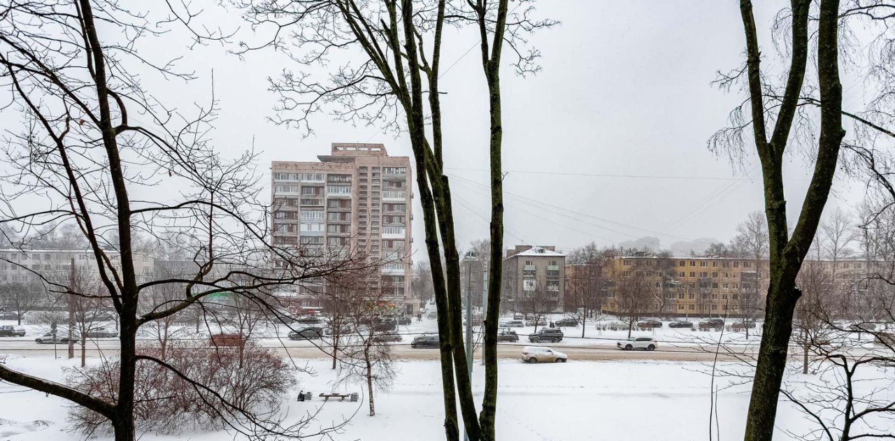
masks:
[[[7,365],[30,374],[62,379],[62,368],[72,360],[10,358]],[[316,424],[354,418],[337,439],[390,441],[394,439],[441,439],[442,414],[437,361],[401,361],[395,385],[377,396],[377,415],[367,416],[367,404],[295,401],[299,389],[314,395],[329,392],[335,372],[326,360],[309,360],[317,375],[301,375],[300,384],[288,397],[290,418],[323,405]],[[529,365],[505,360],[499,364],[498,431],[501,439],[708,439],[711,376],[708,366],[686,362],[584,362]],[[474,372],[476,400],[481,400],[483,369]],[[716,380],[717,386],[729,384]],[[341,392],[363,393],[360,386],[339,387]],[[895,389],[889,393],[895,395]],[[721,387],[717,395],[719,439],[742,436],[748,386]],[[64,441],[81,439],[66,430],[69,403],[22,387],[0,383],[0,439],[14,441]],[[355,414],[356,412],[356,414]],[[713,421],[713,420],[712,420]],[[712,422],[713,423],[713,422]],[[810,422],[791,404],[780,406],[780,437],[799,439]],[[211,441],[229,438],[221,432],[189,433],[180,437],[147,434],[143,440],[191,439]],[[101,438],[102,439],[102,438]]]

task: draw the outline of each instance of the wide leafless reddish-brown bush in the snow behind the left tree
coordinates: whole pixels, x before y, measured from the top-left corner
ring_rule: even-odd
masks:
[[[146,359],[137,364],[134,417],[138,432],[171,435],[241,427],[276,414],[295,384],[290,364],[276,352],[252,343],[243,348],[243,363],[239,348],[207,342],[171,342],[164,359],[159,348],[144,347],[138,353],[170,367]],[[115,403],[118,373],[118,361],[108,360],[72,369],[67,379],[70,386]],[[94,411],[74,407],[69,417],[72,429],[88,437],[111,433],[109,421]]]

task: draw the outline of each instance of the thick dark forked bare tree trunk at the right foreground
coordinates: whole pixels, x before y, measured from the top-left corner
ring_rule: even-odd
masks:
[[[820,135],[817,147],[810,147],[814,174],[795,229],[790,234],[783,163],[803,96],[809,33],[813,33],[809,32],[808,20],[811,3],[808,0],[793,0],[788,13],[778,16],[780,29],[790,30],[787,40],[789,69],[782,93],[775,93],[775,98],[769,98],[769,89],[776,91],[777,88],[762,72],[762,52],[752,2],[740,1],[746,34],[746,64],[737,72],[722,77],[720,83],[730,86],[740,79],[746,80],[748,112],[746,116],[745,104],[737,108],[732,114],[733,127],[719,131],[710,141],[712,148],[729,148],[734,157],[741,157],[746,151],[745,131],[751,129],[763,175],[764,212],[770,237],[770,287],[765,302],[765,328],[746,419],[746,441],[768,440],[773,436],[780,382],[786,369],[789,336],[792,334],[792,318],[801,295],[796,287],[796,277],[829,196],[845,135],[839,76],[840,2],[822,0],[815,15],[817,21],[812,22],[817,26],[815,41]],[[807,137],[804,135],[803,140]]]

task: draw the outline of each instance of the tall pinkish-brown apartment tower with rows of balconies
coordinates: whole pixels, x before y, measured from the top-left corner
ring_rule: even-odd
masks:
[[[389,157],[382,144],[333,143],[318,159],[271,163],[274,243],[321,254],[363,250],[371,261],[385,262],[373,283],[390,290],[405,313],[415,313],[410,158]],[[302,306],[320,306],[314,296],[296,294]]]

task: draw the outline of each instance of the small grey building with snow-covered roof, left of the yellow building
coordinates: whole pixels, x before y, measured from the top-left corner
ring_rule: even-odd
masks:
[[[503,260],[504,310],[541,314],[562,312],[566,292],[566,255],[555,247],[516,245]]]

